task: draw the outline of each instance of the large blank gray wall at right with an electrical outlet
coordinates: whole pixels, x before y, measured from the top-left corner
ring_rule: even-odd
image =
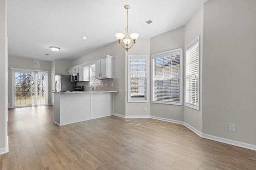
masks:
[[[256,145],[256,1],[207,2],[203,48],[203,133]]]

